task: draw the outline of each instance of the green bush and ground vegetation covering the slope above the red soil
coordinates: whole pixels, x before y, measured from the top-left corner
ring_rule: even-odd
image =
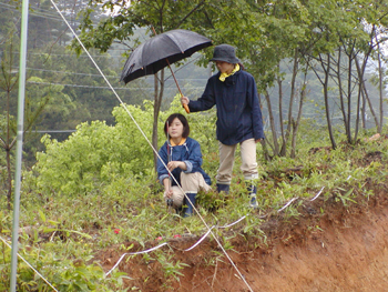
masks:
[[[129,109],[145,135],[151,137],[152,107],[145,103],[143,109]],[[161,113],[160,125],[176,111],[182,111],[177,100]],[[103,269],[95,255],[112,246],[122,253],[141,251],[177,234],[203,235],[207,231],[198,215],[181,219],[166,208],[155,180],[152,150],[122,108],[115,108],[113,114],[114,127],[99,121],[83,123],[63,142],[44,137],[45,151],[38,153],[38,163],[23,174],[19,253],[59,291],[136,290],[131,285],[131,274],[115,269],[105,275],[106,266]],[[204,169],[214,178],[218,163],[215,114],[190,114],[188,119],[191,137],[202,144]],[[367,182],[386,181],[385,137],[370,139],[372,132],[365,131],[355,145],[343,142],[333,150],[325,129],[312,129],[312,124],[310,120],[303,122],[297,159],[264,161],[258,147],[259,210],[248,208],[238,153],[231,195],[225,199],[215,191],[200,193],[198,211],[210,226],[246,215],[238,231],[215,232],[226,250],[233,249],[235,236],[255,239],[256,245],[264,246],[262,223],[294,198],[298,200],[282,210],[284,219],[297,218],[298,205],[319,191],[323,198],[348,205],[356,203],[356,197],[374,195],[365,188]],[[336,134],[340,140],[340,131]],[[159,144],[163,141],[160,137]],[[10,242],[12,212],[7,210],[6,197],[1,198],[0,290],[7,290],[11,251],[6,243]],[[165,288],[182,276],[180,271],[186,265],[174,259],[172,250],[136,256],[160,262]],[[52,291],[23,261],[18,274],[18,291]]]

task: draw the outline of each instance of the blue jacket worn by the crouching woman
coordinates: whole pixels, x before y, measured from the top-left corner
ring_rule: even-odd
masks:
[[[185,173],[194,173],[194,172],[201,172],[201,174],[204,177],[205,182],[211,185],[212,180],[206,174],[206,172],[201,168],[202,165],[202,152],[201,152],[201,145],[197,141],[194,139],[187,137],[186,141],[182,145],[170,145],[170,154],[171,161],[183,161],[186,163],[187,170],[185,170]],[[164,161],[164,163],[167,165],[169,163],[169,154],[167,154],[167,141],[162,145],[162,148],[159,150],[159,155]],[[160,182],[163,184],[163,180],[165,178],[169,178],[169,171],[165,169],[163,163],[160,159],[157,159],[157,178]],[[181,172],[183,170],[181,168],[176,168],[172,171],[172,174],[174,175],[175,180],[181,184]],[[176,182],[172,180],[172,185],[176,185]]]

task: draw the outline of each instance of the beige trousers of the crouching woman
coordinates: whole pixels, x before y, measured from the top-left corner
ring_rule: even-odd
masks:
[[[181,187],[185,193],[197,193],[200,190],[207,192],[211,189],[204,177],[200,172],[184,173],[181,172]],[[180,187],[173,185],[173,205],[180,208],[184,201],[184,194]]]

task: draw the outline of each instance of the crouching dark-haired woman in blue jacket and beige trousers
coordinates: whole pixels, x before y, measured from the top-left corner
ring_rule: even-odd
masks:
[[[207,192],[212,184],[211,178],[201,168],[201,145],[188,137],[188,122],[181,113],[173,113],[167,118],[164,133],[167,141],[160,149],[157,159],[157,177],[164,185],[163,197],[166,201],[172,200],[173,207],[177,210],[183,204],[187,205],[184,217],[191,217],[197,192],[200,190]],[[161,159],[173,178],[170,178]]]

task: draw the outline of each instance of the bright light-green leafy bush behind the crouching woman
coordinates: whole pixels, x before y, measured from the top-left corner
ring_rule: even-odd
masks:
[[[171,109],[161,113],[160,145],[165,141],[165,119],[173,112],[182,111],[177,102],[176,98]],[[151,141],[152,103],[145,101],[144,110],[136,105],[127,105],[127,110]],[[33,167],[35,185],[40,192],[78,195],[105,187],[110,189],[115,181],[154,175],[153,151],[137,125],[122,107],[114,108],[113,115],[116,120],[114,127],[93,121],[91,124],[80,124],[76,132],[63,142],[50,139],[50,135],[42,138],[45,152],[37,153],[38,162]],[[214,135],[208,134],[215,132],[214,117],[203,119],[194,115],[190,121],[192,137],[204,145],[205,153],[216,151]]]

